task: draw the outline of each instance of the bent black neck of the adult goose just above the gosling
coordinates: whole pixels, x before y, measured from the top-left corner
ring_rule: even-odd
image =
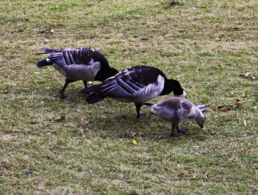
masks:
[[[167,95],[173,91],[174,95],[183,94],[180,83],[174,79],[165,79],[164,88],[159,95]]]

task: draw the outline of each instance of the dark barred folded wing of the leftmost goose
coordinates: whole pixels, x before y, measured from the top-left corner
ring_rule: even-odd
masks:
[[[92,65],[97,61],[101,66],[109,67],[107,59],[100,52],[91,48],[57,49],[47,58],[61,67],[74,64]]]

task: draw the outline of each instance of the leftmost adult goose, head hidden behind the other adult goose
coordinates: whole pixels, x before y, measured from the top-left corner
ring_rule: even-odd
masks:
[[[46,49],[39,54],[50,54],[49,57],[39,60],[37,67],[52,65],[64,77],[66,77],[65,85],[60,90],[62,99],[68,97],[64,95],[65,89],[69,83],[83,80],[85,88],[87,81],[104,81],[118,73],[115,68],[111,68],[108,60],[98,51],[91,48],[72,48],[72,49]],[[35,55],[39,55],[35,54]]]

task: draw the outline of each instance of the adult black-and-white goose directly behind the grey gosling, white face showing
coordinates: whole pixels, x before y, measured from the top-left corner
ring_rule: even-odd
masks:
[[[167,95],[173,91],[174,95],[186,97],[186,92],[180,83],[167,79],[158,68],[151,66],[134,66],[112,76],[98,85],[82,89],[83,92],[94,92],[86,96],[89,104],[96,103],[104,98],[111,98],[120,102],[134,102],[137,119],[140,119],[140,108],[143,102]]]

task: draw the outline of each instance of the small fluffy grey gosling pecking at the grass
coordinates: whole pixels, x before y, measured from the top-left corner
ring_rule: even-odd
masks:
[[[171,122],[172,132],[170,137],[179,136],[174,134],[175,127],[178,133],[184,133],[187,130],[178,127],[179,123],[185,119],[195,120],[200,128],[203,128],[205,116],[201,111],[207,108],[206,105],[195,106],[190,100],[179,97],[171,97],[156,104],[143,103],[143,105],[150,106],[150,110],[160,119]]]

